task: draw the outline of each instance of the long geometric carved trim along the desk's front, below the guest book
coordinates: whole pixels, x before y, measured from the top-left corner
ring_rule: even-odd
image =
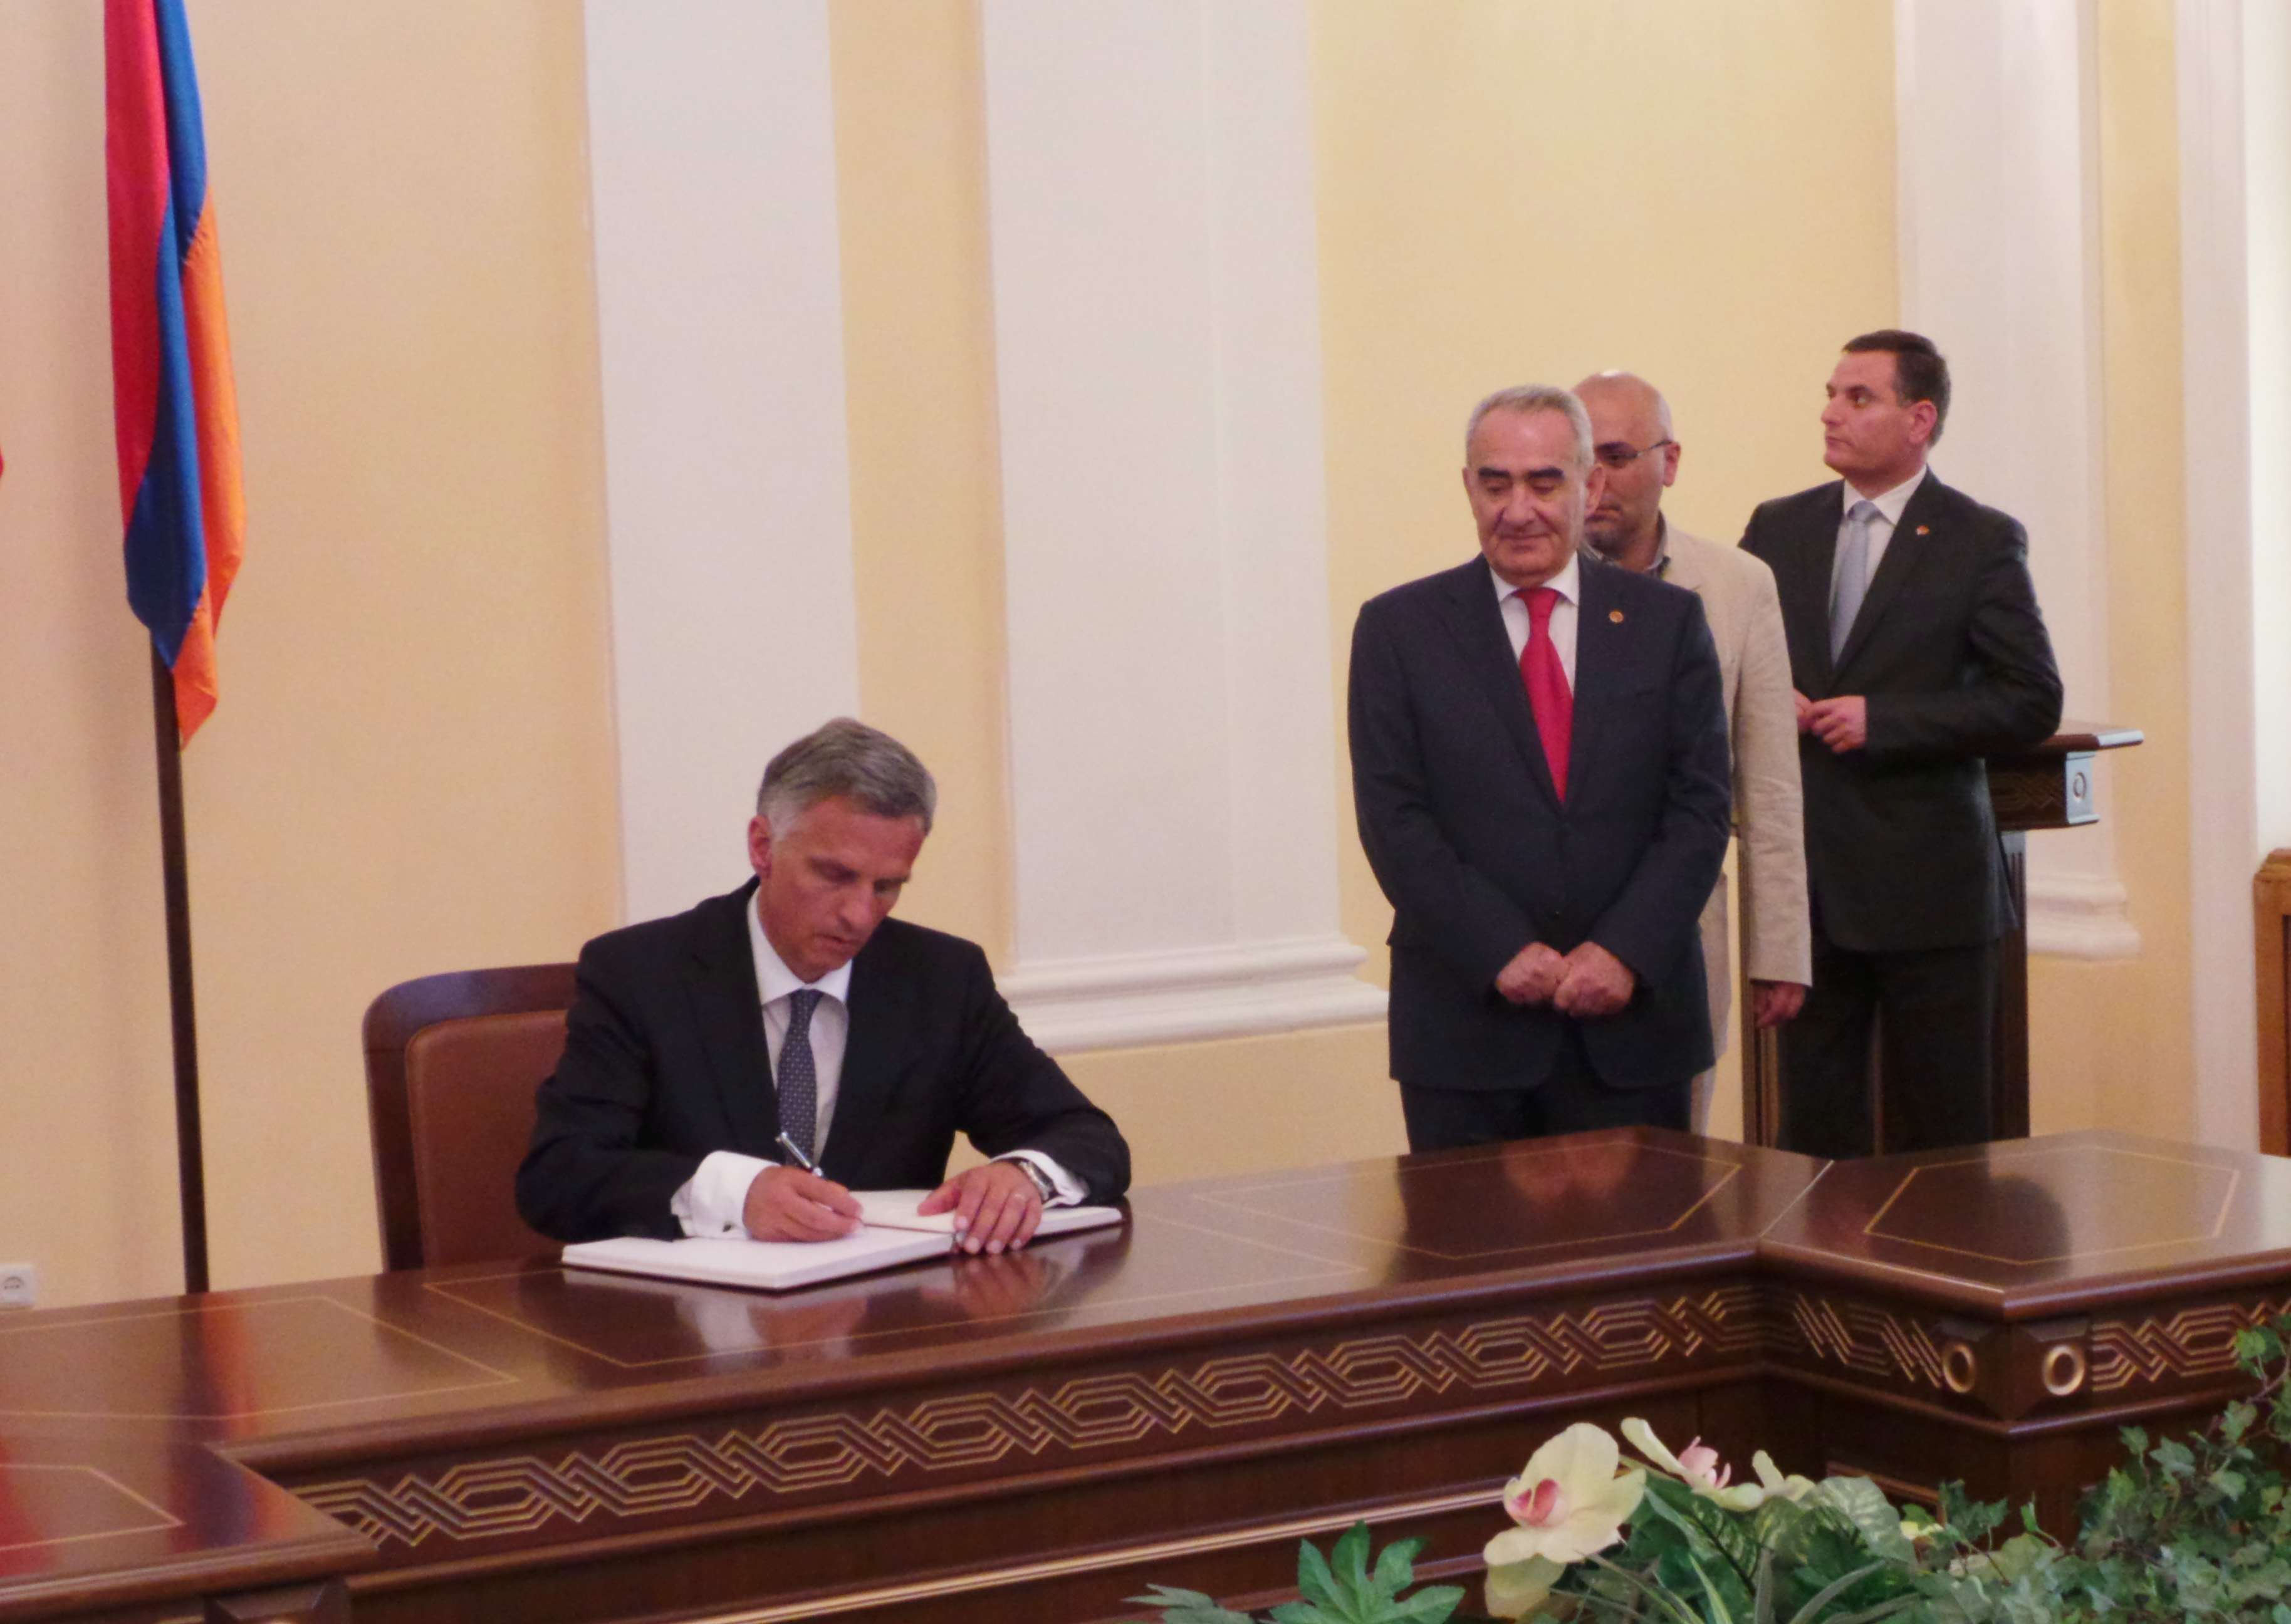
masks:
[[[460,1461],[296,1493],[389,1551],[440,1537],[532,1537],[552,1523],[733,1514],[754,1493],[800,1496],[903,1471],[951,1473],[1010,1452],[1084,1457],[1187,1429],[1269,1427],[1301,1413],[1384,1409],[1425,1395],[1569,1379],[1647,1377],[1705,1356],[1753,1358],[1764,1335],[1753,1283],[1693,1296],[1622,1299],[1462,1329],[1372,1335],[1294,1354],[1235,1354],[1184,1370],[1113,1372],[1017,1393],[962,1393],[900,1409],[813,1413],[667,1434],[554,1459]]]

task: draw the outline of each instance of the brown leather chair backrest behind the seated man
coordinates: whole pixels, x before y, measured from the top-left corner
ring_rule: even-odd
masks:
[[[422,976],[367,1006],[385,1269],[554,1251],[518,1219],[513,1180],[570,1003],[570,964],[520,964]]]

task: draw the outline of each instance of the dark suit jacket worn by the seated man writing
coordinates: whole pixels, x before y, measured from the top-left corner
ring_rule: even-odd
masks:
[[[518,1212],[543,1235],[674,1239],[669,1198],[710,1150],[786,1159],[747,944],[754,893],[749,882],[582,948],[566,1054],[518,1168]],[[1120,1129],[1019,1031],[985,955],[887,919],[852,960],[820,1170],[850,1189],[930,1189],[958,1132],[990,1157],[1040,1150],[1091,1200],[1129,1187]]]

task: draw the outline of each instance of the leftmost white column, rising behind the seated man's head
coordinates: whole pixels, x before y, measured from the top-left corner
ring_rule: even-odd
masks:
[[[586,0],[621,873],[747,873],[765,758],[859,705],[825,0]]]

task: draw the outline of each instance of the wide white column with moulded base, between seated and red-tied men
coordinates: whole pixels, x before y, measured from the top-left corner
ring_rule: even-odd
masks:
[[[1054,1047],[1379,1019],[1338,935],[1304,0],[985,0],[1017,964]]]

